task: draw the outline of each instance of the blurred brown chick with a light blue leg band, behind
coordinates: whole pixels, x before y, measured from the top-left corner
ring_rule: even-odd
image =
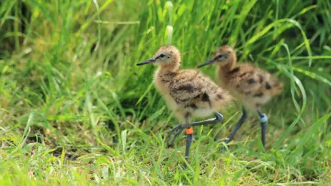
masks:
[[[199,65],[199,68],[209,64],[217,64],[216,79],[219,85],[229,90],[230,94],[243,103],[243,115],[225,143],[232,141],[245,122],[247,118],[245,107],[248,107],[250,110],[257,110],[259,114],[261,141],[264,147],[268,118],[261,112],[261,106],[270,101],[273,96],[281,94],[283,83],[272,74],[254,67],[251,63],[237,64],[237,55],[228,45],[218,48],[212,58]]]

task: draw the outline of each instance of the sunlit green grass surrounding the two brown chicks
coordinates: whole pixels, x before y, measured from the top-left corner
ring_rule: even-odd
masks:
[[[1,185],[330,184],[330,10],[326,0],[1,1]],[[135,65],[169,43],[183,68],[229,44],[285,83],[263,108],[266,151],[254,112],[230,149],[212,140],[228,136],[237,104],[195,130],[181,170],[185,137],[165,148],[177,121],[155,68]]]

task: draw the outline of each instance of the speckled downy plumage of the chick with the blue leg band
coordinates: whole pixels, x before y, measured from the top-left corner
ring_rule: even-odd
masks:
[[[245,107],[256,110],[273,96],[281,94],[283,83],[251,63],[237,64],[237,56],[229,46],[219,48],[213,57],[216,58],[219,54],[228,54],[228,56],[226,61],[219,62],[217,66],[217,81],[242,101]]]

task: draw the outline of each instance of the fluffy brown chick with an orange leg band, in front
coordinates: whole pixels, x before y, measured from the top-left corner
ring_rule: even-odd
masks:
[[[230,103],[231,97],[197,70],[181,70],[181,54],[172,46],[163,46],[151,59],[138,63],[145,65],[152,63],[159,68],[154,74],[154,84],[163,95],[166,103],[183,124],[179,124],[168,135],[168,147],[173,145],[174,140],[185,129],[186,149],[185,158],[188,158],[192,145],[192,126],[214,124],[222,121],[223,116],[217,112]],[[205,121],[191,122],[192,118],[210,116],[214,113],[216,118]],[[170,136],[174,133],[172,143],[169,144]],[[186,164],[184,164],[186,167]]]

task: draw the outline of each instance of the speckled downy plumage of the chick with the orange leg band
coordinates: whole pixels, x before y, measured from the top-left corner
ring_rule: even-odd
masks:
[[[155,63],[159,65],[159,69],[154,74],[154,83],[181,121],[208,116],[230,103],[228,92],[208,76],[198,70],[179,69],[181,58],[177,48],[161,47],[154,58],[162,53],[172,54],[172,60],[168,63]]]

